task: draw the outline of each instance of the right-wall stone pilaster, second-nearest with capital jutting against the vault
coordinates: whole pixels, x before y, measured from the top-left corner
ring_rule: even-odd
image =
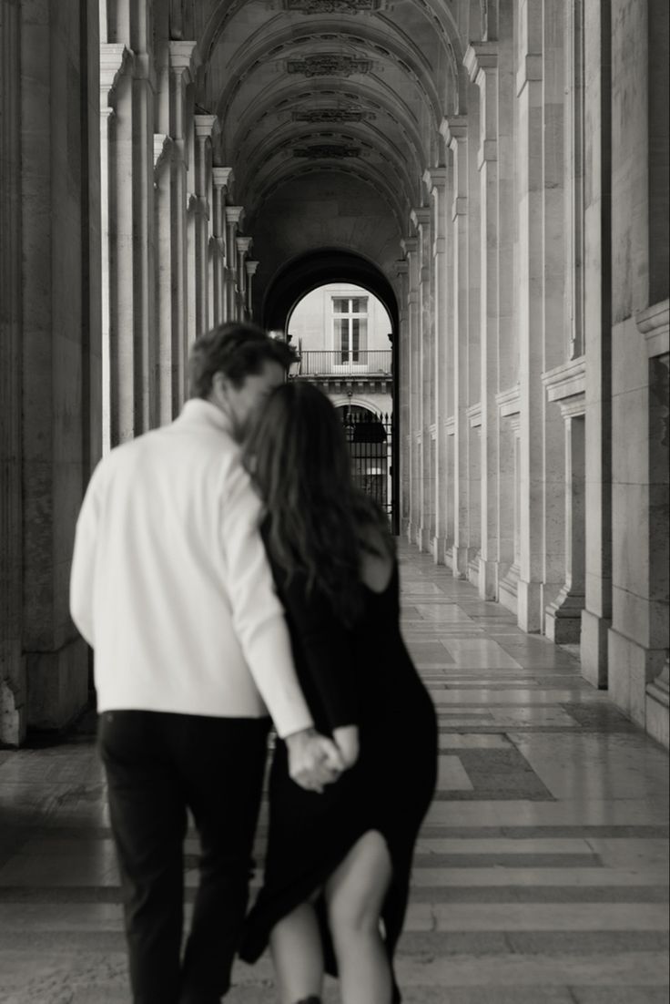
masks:
[[[470,306],[469,254],[467,233],[468,150],[467,123],[453,116],[444,119],[440,132],[453,157],[453,548],[451,570],[454,577],[465,578],[470,559],[467,512],[467,338]]]

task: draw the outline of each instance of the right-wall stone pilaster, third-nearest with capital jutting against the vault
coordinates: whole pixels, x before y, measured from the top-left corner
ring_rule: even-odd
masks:
[[[447,546],[448,477],[445,419],[448,415],[448,345],[447,345],[447,281],[446,264],[446,168],[426,171],[423,181],[430,193],[432,209],[432,289],[433,289],[433,415],[435,527],[430,548],[435,562],[444,561]]]

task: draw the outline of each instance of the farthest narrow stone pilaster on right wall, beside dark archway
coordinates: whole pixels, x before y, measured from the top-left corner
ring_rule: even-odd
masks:
[[[407,342],[409,389],[409,519],[407,539],[415,543],[420,527],[420,449],[421,431],[418,405],[420,401],[419,369],[419,265],[418,239],[405,237],[402,249],[407,256]]]

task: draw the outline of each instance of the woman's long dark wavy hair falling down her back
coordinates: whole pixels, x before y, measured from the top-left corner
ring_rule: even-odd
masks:
[[[263,406],[245,466],[266,511],[266,542],[288,576],[306,575],[347,625],[362,603],[361,559],[390,537],[384,513],[354,485],[335,408],[317,387],[292,381]],[[365,530],[367,529],[367,533]],[[374,532],[376,531],[376,532]]]

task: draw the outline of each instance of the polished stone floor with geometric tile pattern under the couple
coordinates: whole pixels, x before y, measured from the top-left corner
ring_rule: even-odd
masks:
[[[399,951],[405,1001],[667,1002],[667,754],[572,653],[407,547],[402,586],[441,743]],[[128,1000],[90,725],[0,751],[2,1004]],[[240,965],[228,1000],[275,1001],[267,959]]]

